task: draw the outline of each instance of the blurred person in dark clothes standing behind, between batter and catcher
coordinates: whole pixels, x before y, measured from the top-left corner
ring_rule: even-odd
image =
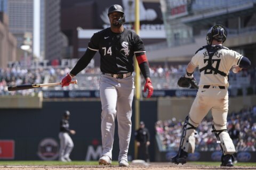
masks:
[[[149,162],[148,146],[150,145],[150,134],[145,128],[144,122],[140,122],[140,128],[135,132],[135,140],[138,146],[138,159]]]

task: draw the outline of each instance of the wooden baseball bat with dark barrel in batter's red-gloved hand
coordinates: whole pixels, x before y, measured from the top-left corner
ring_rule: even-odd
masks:
[[[71,81],[70,84],[77,84],[77,80]],[[23,85],[18,85],[18,86],[8,86],[8,91],[34,89],[34,88],[38,88],[38,87],[49,87],[49,86],[57,86],[57,85],[61,85],[61,82],[45,83],[45,84],[23,84]]]

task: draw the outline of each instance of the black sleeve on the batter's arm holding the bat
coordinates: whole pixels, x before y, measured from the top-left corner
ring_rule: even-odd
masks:
[[[84,70],[85,67],[90,63],[96,52],[97,51],[87,48],[84,55],[77,61],[74,68],[70,71],[70,74],[75,76],[76,74]]]

